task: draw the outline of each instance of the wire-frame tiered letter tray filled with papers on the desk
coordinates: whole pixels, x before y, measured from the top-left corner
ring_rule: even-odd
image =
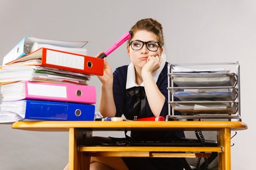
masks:
[[[169,64],[169,117],[240,121],[239,68],[238,62]]]

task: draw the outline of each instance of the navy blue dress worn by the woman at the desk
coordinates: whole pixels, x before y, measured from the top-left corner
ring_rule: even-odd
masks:
[[[156,85],[160,89],[161,93],[165,96],[165,103],[162,107],[160,116],[166,117],[168,115],[168,63],[165,63],[165,67],[162,69],[159,74]],[[134,91],[133,88],[126,89],[126,80],[127,80],[127,68],[128,66],[122,66],[117,68],[113,73],[113,96],[115,107],[117,113],[115,116],[124,116],[128,120],[133,120],[136,115],[137,118],[143,117],[152,117],[154,116],[153,112],[150,110],[146,96],[144,97],[144,110],[140,107],[134,107],[138,100],[138,96],[131,95],[131,91]],[[144,88],[144,87],[143,87]],[[143,89],[144,90],[144,89]],[[143,94],[145,95],[145,94]],[[142,97],[143,98],[143,97]],[[143,102],[143,101],[141,101]],[[156,101],[157,102],[157,101]],[[172,130],[150,130],[150,131],[139,131],[132,130],[131,139],[132,140],[146,140],[146,141],[171,141],[176,138],[184,137],[182,131],[172,131]],[[177,159],[173,158],[123,158],[126,166],[131,169],[183,169],[179,164]]]

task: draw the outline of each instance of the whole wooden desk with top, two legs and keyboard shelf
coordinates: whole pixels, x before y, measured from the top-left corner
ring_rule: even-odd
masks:
[[[43,122],[16,122],[12,128],[43,132],[69,132],[69,170],[89,169],[90,156],[167,156],[167,157],[191,157],[196,152],[218,152],[219,169],[231,169],[230,160],[230,131],[245,130],[247,125],[242,122],[198,122],[198,121],[43,121]],[[156,129],[156,130],[207,130],[217,131],[218,147],[80,147],[86,140],[90,140],[92,131],[120,131],[131,129]],[[134,153],[138,154],[134,154]],[[165,152],[164,154],[160,154]],[[172,153],[176,152],[176,153]],[[177,154],[178,152],[178,154]],[[180,154],[179,154],[180,152]],[[181,152],[186,152],[183,156]],[[188,154],[187,154],[188,153]]]

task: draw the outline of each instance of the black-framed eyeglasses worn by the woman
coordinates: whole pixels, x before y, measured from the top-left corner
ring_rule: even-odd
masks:
[[[130,41],[129,45],[131,45],[133,50],[140,50],[146,44],[146,47],[149,51],[157,51],[161,44],[155,41],[143,42],[139,40]]]

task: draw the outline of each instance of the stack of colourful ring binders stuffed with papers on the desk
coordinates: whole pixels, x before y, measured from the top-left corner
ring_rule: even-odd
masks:
[[[23,38],[0,70],[0,123],[94,121],[96,87],[103,59],[87,56],[87,42]]]

